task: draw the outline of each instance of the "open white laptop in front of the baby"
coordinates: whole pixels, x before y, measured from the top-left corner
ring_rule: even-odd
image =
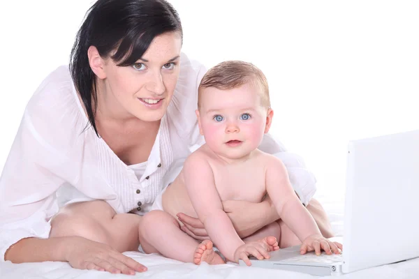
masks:
[[[346,163],[341,255],[293,246],[251,257],[252,266],[339,276],[419,257],[419,130],[351,141]]]

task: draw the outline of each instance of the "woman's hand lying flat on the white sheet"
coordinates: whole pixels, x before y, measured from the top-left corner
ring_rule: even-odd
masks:
[[[80,236],[67,237],[65,258],[75,269],[96,269],[126,275],[134,275],[135,271],[147,271],[142,264],[106,244]]]

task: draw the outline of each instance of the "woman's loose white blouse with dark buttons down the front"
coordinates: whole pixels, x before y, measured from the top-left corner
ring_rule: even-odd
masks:
[[[48,238],[49,220],[63,204],[103,199],[117,213],[149,211],[175,177],[170,169],[178,169],[175,166],[204,143],[195,110],[206,70],[185,54],[181,60],[172,102],[140,179],[92,128],[84,130],[88,119],[66,66],[41,83],[24,111],[0,177],[0,261],[20,239]],[[270,135],[260,149],[284,161],[295,191],[307,204],[316,179],[302,159]]]

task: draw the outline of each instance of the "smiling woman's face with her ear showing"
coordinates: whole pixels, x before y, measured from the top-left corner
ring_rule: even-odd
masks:
[[[132,66],[117,66],[112,59],[105,59],[98,109],[117,119],[159,121],[175,91],[181,47],[179,33],[170,32],[156,36]]]

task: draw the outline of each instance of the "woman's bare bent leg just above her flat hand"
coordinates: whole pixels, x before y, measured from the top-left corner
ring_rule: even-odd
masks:
[[[50,238],[82,236],[119,252],[137,251],[140,220],[137,214],[115,213],[107,202],[78,202],[64,206],[52,218]]]

